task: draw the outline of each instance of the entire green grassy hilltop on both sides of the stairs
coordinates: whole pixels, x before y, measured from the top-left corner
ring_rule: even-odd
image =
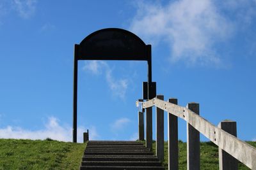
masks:
[[[256,147],[256,142],[248,142]],[[0,169],[79,169],[85,144],[46,140],[0,139]],[[218,147],[201,143],[201,169],[219,169]],[[155,143],[153,143],[155,149]],[[167,143],[164,143],[167,168]],[[186,143],[179,141],[179,169],[186,169]],[[239,169],[248,169],[239,164]]]

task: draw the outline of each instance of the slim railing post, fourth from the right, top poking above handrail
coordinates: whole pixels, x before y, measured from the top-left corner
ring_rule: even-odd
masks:
[[[163,95],[156,97],[164,100]],[[160,161],[164,160],[164,110],[160,108],[156,108],[156,156]]]

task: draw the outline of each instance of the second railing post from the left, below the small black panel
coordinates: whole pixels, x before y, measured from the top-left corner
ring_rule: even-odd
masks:
[[[146,147],[152,150],[152,107],[146,109]]]

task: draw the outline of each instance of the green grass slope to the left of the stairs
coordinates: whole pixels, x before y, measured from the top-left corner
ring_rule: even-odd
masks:
[[[79,169],[85,144],[0,139],[0,169]]]

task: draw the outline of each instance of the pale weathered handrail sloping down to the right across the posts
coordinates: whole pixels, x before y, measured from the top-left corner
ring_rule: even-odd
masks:
[[[229,153],[240,162],[243,162],[243,164],[249,168],[256,169],[256,148],[244,141],[241,141],[232,134],[223,131],[219,127],[216,127],[211,124],[211,122],[200,117],[188,108],[168,103],[161,99],[157,99],[156,97],[146,102],[138,101],[136,103],[137,106],[139,103],[142,103],[143,108],[156,106],[157,108],[161,108],[161,110],[182,118],[192,125],[197,131],[204,134],[205,137],[218,145],[222,150],[225,150],[225,152]]]

